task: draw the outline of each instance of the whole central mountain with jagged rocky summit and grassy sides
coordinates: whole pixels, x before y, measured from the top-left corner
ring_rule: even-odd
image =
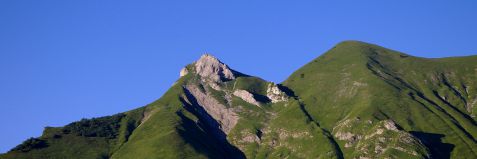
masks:
[[[340,155],[331,135],[310,122],[279,86],[231,70],[209,55],[181,72],[112,158]]]

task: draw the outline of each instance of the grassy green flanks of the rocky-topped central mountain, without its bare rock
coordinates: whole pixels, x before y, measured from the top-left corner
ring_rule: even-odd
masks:
[[[112,158],[284,158],[341,156],[338,146],[316,123],[310,121],[296,100],[271,103],[260,100],[269,82],[257,77],[240,76],[214,90],[201,83],[195,74],[182,77],[161,99],[150,104],[153,115],[139,126],[128,143]],[[219,103],[234,109],[240,118],[227,135],[217,138],[206,119],[185,101],[186,85],[196,85]],[[226,94],[234,90],[253,93],[260,106]],[[184,98],[184,99],[183,99]],[[287,123],[287,124],[283,124]],[[210,125],[209,125],[210,126]],[[320,145],[314,144],[316,142]]]

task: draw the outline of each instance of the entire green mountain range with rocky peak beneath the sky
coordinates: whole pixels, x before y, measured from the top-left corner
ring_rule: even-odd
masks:
[[[477,56],[345,41],[281,84],[211,55],[158,100],[47,127],[10,158],[477,158]]]

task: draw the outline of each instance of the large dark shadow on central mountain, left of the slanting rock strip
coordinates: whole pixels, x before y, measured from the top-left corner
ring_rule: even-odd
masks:
[[[180,98],[184,108],[199,118],[192,121],[178,112],[184,130],[179,129],[179,134],[196,150],[206,154],[209,158],[243,159],[245,154],[227,141],[226,134],[220,129],[220,124],[210,116],[195,97],[184,89],[187,101]]]

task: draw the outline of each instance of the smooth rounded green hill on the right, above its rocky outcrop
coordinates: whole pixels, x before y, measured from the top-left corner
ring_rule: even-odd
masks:
[[[353,125],[357,133],[366,122],[391,119],[418,134],[432,157],[475,158],[475,106],[468,103],[477,95],[476,68],[477,56],[425,59],[347,41],[283,84],[328,130],[357,118],[363,121]],[[345,157],[358,151],[340,145]]]

